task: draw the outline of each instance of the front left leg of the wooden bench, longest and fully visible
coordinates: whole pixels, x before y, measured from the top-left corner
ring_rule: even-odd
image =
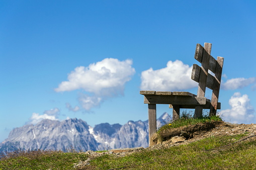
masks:
[[[151,140],[152,135],[156,132],[156,104],[148,104],[148,137],[149,146],[154,145]]]

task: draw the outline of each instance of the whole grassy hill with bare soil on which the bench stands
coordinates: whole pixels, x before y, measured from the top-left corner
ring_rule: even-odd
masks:
[[[158,130],[159,136],[164,134],[165,141],[136,152],[118,156],[107,151],[108,154],[98,152],[95,156],[74,148],[67,152],[17,150],[2,155],[0,169],[256,169],[254,125],[246,126],[249,130],[245,130],[245,125],[228,127],[221,120],[210,118],[199,121],[183,118],[179,121],[181,125],[177,125],[178,121],[177,124],[168,122]],[[210,122],[218,123],[207,130],[199,128],[194,131],[194,136],[190,136],[193,139],[188,139],[191,142],[166,145],[170,139],[166,137],[167,131],[179,131],[179,128],[184,131]],[[214,132],[211,131],[213,128]],[[204,137],[206,132],[211,135]]]

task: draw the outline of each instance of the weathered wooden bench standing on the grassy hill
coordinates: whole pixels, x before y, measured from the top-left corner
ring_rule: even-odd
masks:
[[[210,115],[216,115],[217,109],[220,109],[218,97],[224,58],[217,57],[215,60],[210,55],[211,46],[205,43],[204,47],[200,44],[196,47],[195,59],[201,63],[201,67],[193,65],[191,79],[199,83],[197,95],[177,91],[140,91],[144,95],[144,103],[148,104],[149,146],[153,144],[151,136],[156,132],[156,104],[169,104],[169,108],[173,108],[173,120],[180,117],[181,108],[195,109],[195,117],[201,117],[203,109],[210,109]],[[212,90],[211,100],[205,98],[206,87]]]

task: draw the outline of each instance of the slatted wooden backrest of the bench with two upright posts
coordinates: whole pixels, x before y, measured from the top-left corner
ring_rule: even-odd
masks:
[[[211,56],[211,47],[211,43],[205,43],[204,47],[197,44],[195,59],[201,63],[201,67],[197,64],[193,65],[191,79],[199,83],[197,97],[205,97],[206,87],[212,90],[210,114],[216,115],[224,58],[217,57],[215,60]],[[215,76],[209,74],[208,70]],[[196,112],[201,111],[197,111],[196,108],[195,114]]]

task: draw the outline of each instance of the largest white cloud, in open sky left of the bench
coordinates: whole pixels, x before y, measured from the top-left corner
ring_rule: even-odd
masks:
[[[125,83],[130,81],[135,73],[131,65],[132,60],[106,58],[88,67],[76,67],[68,74],[68,81],[61,82],[55,91],[83,89],[91,93],[80,95],[78,98],[82,108],[90,110],[108,97],[123,95]]]

